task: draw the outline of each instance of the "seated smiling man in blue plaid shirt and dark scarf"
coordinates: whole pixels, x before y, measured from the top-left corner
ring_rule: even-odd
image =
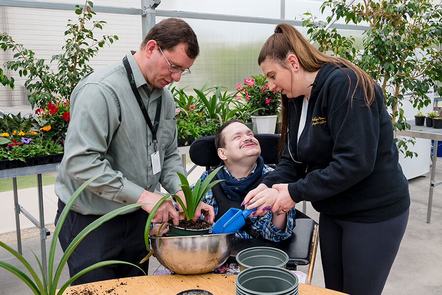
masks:
[[[220,166],[224,167],[212,181],[224,181],[209,190],[202,202],[214,207],[217,221],[231,207],[244,209],[244,197],[261,183],[263,176],[273,168],[264,164],[258,140],[241,120],[229,120],[218,128],[215,147],[221,159]],[[203,181],[211,171],[205,171],[199,181]],[[275,198],[276,196],[275,190]],[[292,235],[295,226],[294,207],[278,215],[271,212],[271,208],[264,209],[267,213],[262,216],[253,216],[255,211],[252,212],[249,215],[251,217],[246,218],[246,225],[236,233],[236,237],[263,236],[267,240],[281,241]]]

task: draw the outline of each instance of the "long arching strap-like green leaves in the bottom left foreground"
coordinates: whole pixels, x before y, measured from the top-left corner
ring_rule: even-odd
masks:
[[[33,269],[29,265],[28,261],[26,261],[26,259],[22,255],[20,255],[20,253],[18,253],[16,250],[14,250],[10,246],[6,245],[5,243],[0,242],[0,247],[6,249],[8,252],[10,252],[12,255],[14,255],[23,264],[23,266],[26,267],[26,269],[28,270],[28,272],[32,278],[30,278],[26,273],[24,273],[23,271],[21,271],[17,267],[15,267],[9,263],[6,263],[4,261],[0,261],[0,267],[5,268],[6,270],[12,272],[17,277],[19,277],[23,282],[25,282],[25,284],[28,285],[29,289],[32,291],[33,294],[35,294],[35,295],[55,295],[55,294],[62,295],[63,292],[66,290],[66,288],[75,279],[82,276],[84,273],[86,273],[92,269],[101,267],[101,266],[107,266],[107,265],[118,263],[118,264],[128,264],[128,265],[138,267],[134,264],[127,263],[124,261],[110,260],[110,261],[99,262],[99,263],[96,263],[92,266],[86,267],[85,269],[79,271],[77,274],[72,276],[67,282],[63,283],[62,286],[60,287],[60,289],[58,290],[58,292],[56,291],[57,284],[60,279],[60,275],[61,275],[61,271],[62,271],[63,267],[65,266],[69,256],[72,254],[74,249],[77,247],[77,245],[82,241],[82,239],[85,236],[87,236],[92,230],[96,229],[97,227],[99,227],[100,225],[102,225],[106,221],[110,220],[111,218],[113,218],[119,214],[122,214],[130,209],[146,205],[146,204],[133,204],[133,205],[124,206],[124,207],[115,209],[115,210],[101,216],[100,218],[98,218],[97,220],[95,220],[94,222],[89,224],[69,244],[69,246],[67,247],[63,256],[61,257],[60,263],[55,268],[54,257],[55,257],[55,247],[56,247],[56,243],[57,243],[57,238],[60,233],[61,226],[62,226],[62,224],[68,214],[68,211],[72,207],[72,205],[74,204],[74,202],[78,198],[78,196],[81,194],[83,189],[86,188],[87,185],[89,185],[89,183],[91,183],[92,181],[94,181],[98,177],[100,177],[100,176],[93,177],[93,178],[87,180],[86,182],[83,183],[82,186],[80,186],[77,189],[77,191],[75,191],[75,193],[71,196],[68,203],[66,204],[66,207],[64,207],[63,211],[61,212],[60,217],[58,218],[58,222],[55,227],[54,236],[52,238],[51,247],[50,247],[49,255],[48,255],[48,281],[46,281],[46,279],[45,279],[45,276],[43,274],[43,268],[42,268],[41,263],[35,254],[34,254],[34,257],[37,260],[40,271],[38,271],[38,269],[37,270]],[[139,268],[139,269],[141,269],[141,268]],[[38,272],[41,273],[41,279],[37,274]]]

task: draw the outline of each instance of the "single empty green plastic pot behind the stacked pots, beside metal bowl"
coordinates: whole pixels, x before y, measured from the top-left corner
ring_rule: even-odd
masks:
[[[252,247],[236,255],[241,271],[254,266],[276,266],[285,268],[289,257],[282,250],[271,247]]]

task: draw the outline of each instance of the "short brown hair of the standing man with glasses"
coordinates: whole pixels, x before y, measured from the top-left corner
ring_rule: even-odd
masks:
[[[149,40],[157,41],[162,50],[170,50],[179,43],[184,43],[186,54],[190,59],[195,59],[199,54],[195,32],[188,23],[177,18],[164,19],[153,26],[144,37],[140,48],[146,48]]]

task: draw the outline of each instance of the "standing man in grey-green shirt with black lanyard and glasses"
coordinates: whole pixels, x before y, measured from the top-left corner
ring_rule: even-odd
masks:
[[[71,277],[104,260],[138,265],[147,252],[146,211],[162,197],[154,193],[157,183],[183,196],[176,174],[186,172],[177,148],[175,104],[165,86],[190,73],[198,53],[193,29],[182,20],[165,19],[148,32],[137,52],[87,74],[72,92],[65,153],[55,180],[55,223],[75,190],[87,179],[102,176],[71,207],[59,236],[63,251],[84,227],[111,210],[149,205],[119,215],[86,236],[68,260]],[[194,219],[201,213],[213,223],[212,207],[201,203]],[[166,201],[152,221],[164,222],[169,216],[177,225],[178,212]],[[140,267],[147,273],[148,262]],[[87,272],[73,285],[141,274],[133,266],[111,265]]]

